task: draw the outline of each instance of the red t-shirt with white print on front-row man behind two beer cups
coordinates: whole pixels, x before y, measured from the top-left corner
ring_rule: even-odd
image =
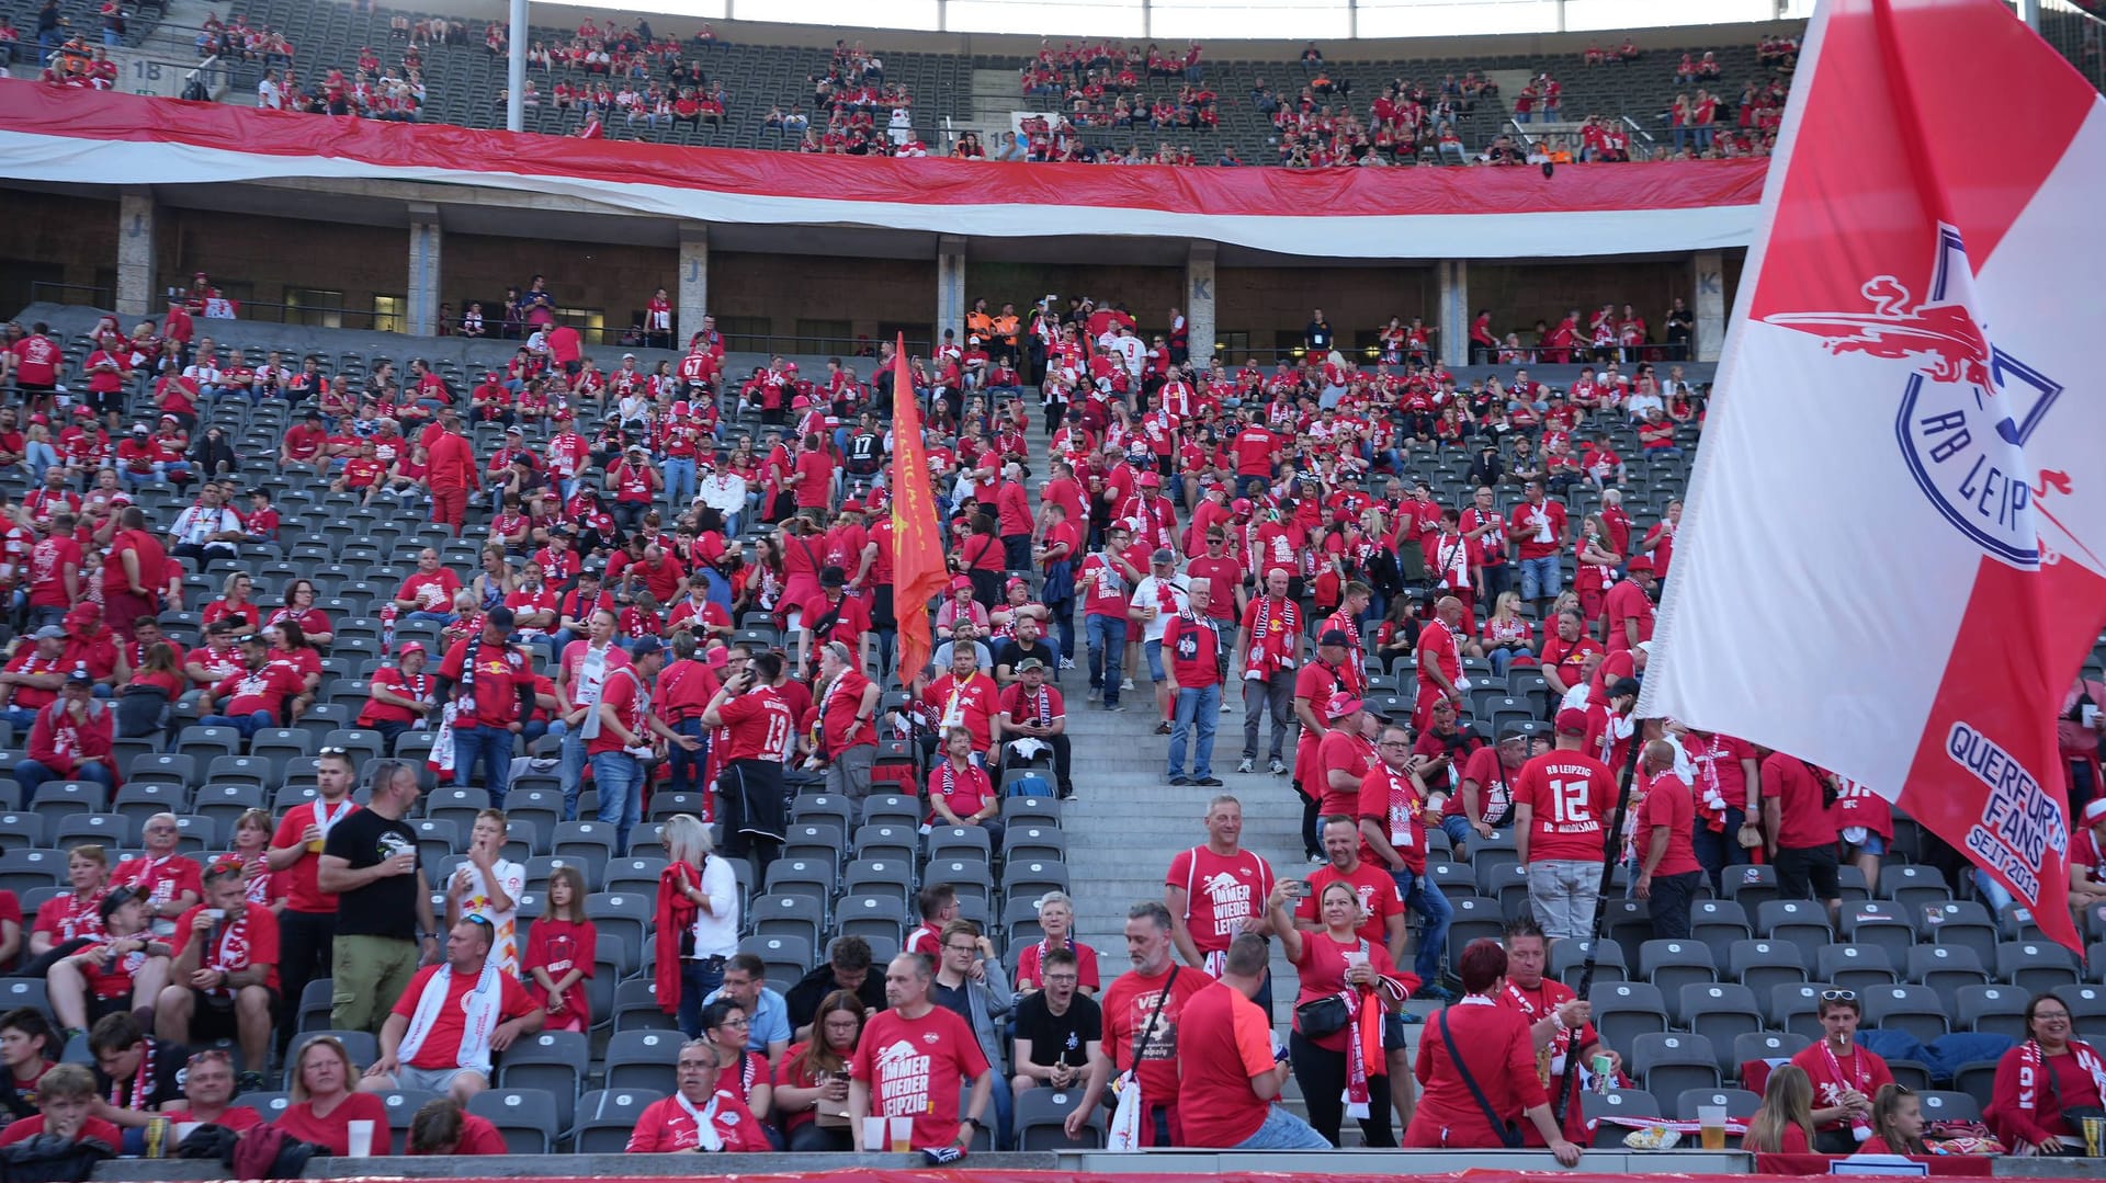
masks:
[[[956,1141],[960,1086],[984,1071],[979,1038],[943,1006],[920,1019],[899,1010],[872,1015],[849,1061],[849,1076],[870,1086],[872,1118],[914,1118],[914,1149]]]

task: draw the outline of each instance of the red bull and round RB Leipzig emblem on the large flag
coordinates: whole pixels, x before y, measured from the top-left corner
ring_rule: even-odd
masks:
[[[1822,337],[1836,356],[1908,364],[1895,440],[1925,497],[1984,552],[2028,570],[2053,562],[2043,524],[2066,539],[2062,545],[2083,545],[2041,505],[2072,493],[2068,474],[2026,465],[2026,440],[2062,385],[1999,349],[1978,320],[1961,232],[1938,225],[1921,301],[1893,276],[1874,276],[1860,293],[1868,312],[1777,312],[1763,320]]]

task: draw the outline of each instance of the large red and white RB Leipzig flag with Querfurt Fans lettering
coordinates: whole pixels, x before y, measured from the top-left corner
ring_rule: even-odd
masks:
[[[2102,192],[2106,103],[1999,0],[1817,11],[1638,707],[1870,785],[2072,949]]]

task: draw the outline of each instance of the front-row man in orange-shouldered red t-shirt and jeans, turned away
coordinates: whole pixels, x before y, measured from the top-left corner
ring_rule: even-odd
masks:
[[[1251,998],[1266,981],[1266,941],[1228,947],[1221,979],[1186,1002],[1177,1057],[1184,1143],[1224,1149],[1327,1149],[1308,1122],[1274,1105],[1293,1071],[1272,1046],[1272,1017]]]

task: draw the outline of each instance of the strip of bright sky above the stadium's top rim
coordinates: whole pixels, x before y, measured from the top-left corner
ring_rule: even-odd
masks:
[[[769,6],[756,0],[567,0],[590,8],[689,19],[758,19],[809,25],[948,32],[1009,32],[1120,38],[1283,38],[1342,40],[1455,34],[1537,34],[1643,29],[1777,19],[1777,0],[802,0]],[[1811,0],[1784,0],[1784,17],[1809,17]],[[1146,27],[1144,27],[1146,21]],[[678,29],[661,29],[678,32]]]

